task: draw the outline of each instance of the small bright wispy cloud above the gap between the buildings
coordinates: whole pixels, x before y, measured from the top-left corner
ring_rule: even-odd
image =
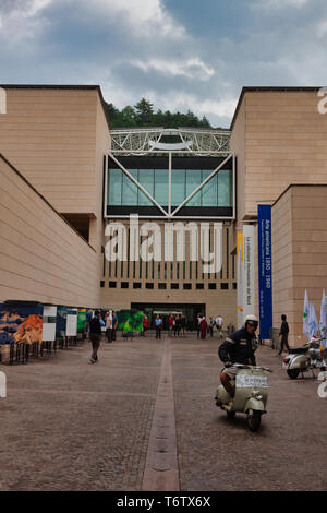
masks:
[[[137,60],[133,64],[143,71],[158,71],[173,76],[186,76],[201,81],[209,80],[215,74],[214,68],[209,68],[197,57],[183,61],[149,59],[147,62],[143,62]]]

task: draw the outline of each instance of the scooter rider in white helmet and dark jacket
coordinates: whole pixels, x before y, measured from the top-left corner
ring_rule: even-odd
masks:
[[[220,381],[225,390],[232,397],[235,391],[230,381],[235,379],[238,372],[238,368],[234,367],[233,363],[256,365],[254,351],[257,348],[257,338],[255,335],[257,326],[257,318],[255,315],[246,315],[243,327],[232,335],[229,335],[219,346],[218,356],[225,363],[225,369],[220,374]]]

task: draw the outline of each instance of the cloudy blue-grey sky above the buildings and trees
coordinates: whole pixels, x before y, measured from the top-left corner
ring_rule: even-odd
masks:
[[[99,84],[229,127],[243,85],[327,85],[326,0],[0,0],[0,83]]]

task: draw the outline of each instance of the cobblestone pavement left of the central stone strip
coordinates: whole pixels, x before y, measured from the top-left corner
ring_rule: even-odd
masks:
[[[162,345],[90,344],[0,366],[0,490],[140,490]]]

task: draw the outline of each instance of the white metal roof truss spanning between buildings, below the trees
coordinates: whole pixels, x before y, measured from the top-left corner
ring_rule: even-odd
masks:
[[[173,152],[193,156],[228,156],[230,131],[222,129],[118,129],[111,132],[111,153],[148,155]],[[171,140],[171,142],[170,142]]]

